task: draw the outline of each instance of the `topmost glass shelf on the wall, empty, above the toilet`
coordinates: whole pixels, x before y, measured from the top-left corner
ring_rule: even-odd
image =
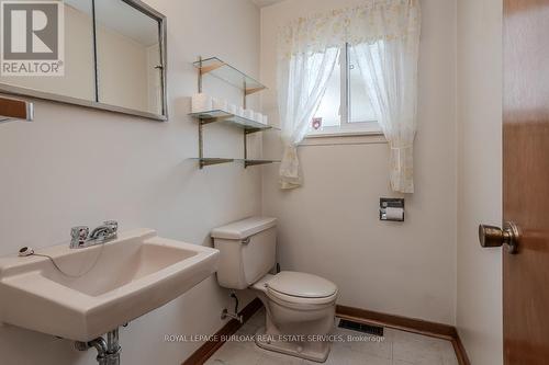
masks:
[[[238,89],[244,90],[246,95],[267,89],[266,85],[264,85],[256,79],[247,76],[246,73],[224,62],[217,57],[211,57],[201,61],[195,61],[192,65],[200,70],[201,76],[210,73]]]

